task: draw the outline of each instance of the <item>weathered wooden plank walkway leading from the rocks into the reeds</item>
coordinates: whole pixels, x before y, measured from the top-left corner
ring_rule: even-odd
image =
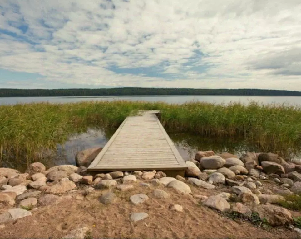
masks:
[[[156,113],[142,111],[127,117],[88,171],[160,170],[182,175],[187,166]]]

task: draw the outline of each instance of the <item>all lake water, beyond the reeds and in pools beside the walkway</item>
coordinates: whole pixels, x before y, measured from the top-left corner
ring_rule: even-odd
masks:
[[[117,96],[117,97],[6,97],[0,98],[0,105],[13,105],[16,103],[50,102],[69,103],[80,101],[163,101],[166,103],[185,103],[188,101],[205,101],[210,103],[241,102],[248,104],[250,101],[257,101],[262,104],[280,103],[301,106],[301,97],[298,96]],[[86,133],[72,135],[63,145],[57,145],[57,152],[51,155],[48,160],[45,158],[47,167],[59,164],[75,165],[76,152],[93,147],[104,147],[115,130],[103,132],[90,129]],[[199,137],[187,134],[169,134],[176,148],[184,160],[194,157],[198,150],[213,150],[215,153],[230,152],[242,155],[245,152],[256,152],[259,149],[244,142],[243,139],[216,139],[210,137]],[[26,162],[2,162],[2,166],[13,167],[18,170],[26,169]]]

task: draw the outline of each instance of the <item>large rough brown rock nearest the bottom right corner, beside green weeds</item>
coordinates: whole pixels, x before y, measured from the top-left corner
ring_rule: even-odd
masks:
[[[274,205],[259,205],[253,211],[257,212],[261,219],[265,218],[271,226],[283,226],[293,222],[291,213],[285,208]]]

